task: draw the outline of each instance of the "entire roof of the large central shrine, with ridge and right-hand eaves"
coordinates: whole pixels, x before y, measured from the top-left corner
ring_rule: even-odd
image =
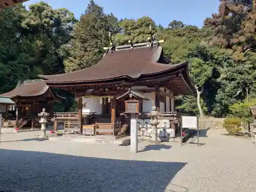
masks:
[[[94,66],[57,75],[39,75],[49,86],[73,86],[74,84],[97,84],[114,81],[139,81],[158,79],[182,72],[185,91],[181,94],[195,93],[195,87],[188,76],[188,63],[168,64],[163,55],[163,48],[148,43],[118,46],[108,51]],[[184,84],[183,83],[183,84]],[[176,86],[177,87],[177,86]]]

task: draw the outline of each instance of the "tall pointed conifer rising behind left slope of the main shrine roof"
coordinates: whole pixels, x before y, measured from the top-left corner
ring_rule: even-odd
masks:
[[[113,14],[105,14],[103,8],[90,1],[79,22],[74,26],[72,39],[62,46],[65,71],[88,68],[103,56],[105,46],[109,46],[109,32],[119,32],[118,19]]]

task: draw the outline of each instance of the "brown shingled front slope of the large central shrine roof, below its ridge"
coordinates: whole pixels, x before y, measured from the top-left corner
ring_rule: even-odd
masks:
[[[182,65],[159,63],[162,59],[162,51],[162,47],[117,50],[105,54],[96,65],[90,68],[58,75],[39,75],[39,77],[51,82],[84,82],[120,77],[137,79],[142,75],[159,73]]]

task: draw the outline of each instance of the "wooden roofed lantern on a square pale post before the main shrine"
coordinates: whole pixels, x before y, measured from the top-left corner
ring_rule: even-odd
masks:
[[[142,113],[142,102],[143,100],[150,100],[144,97],[137,91],[129,89],[123,95],[117,97],[118,100],[124,100],[125,103],[125,115],[131,115],[131,145],[130,152],[138,152],[138,125],[137,117]]]

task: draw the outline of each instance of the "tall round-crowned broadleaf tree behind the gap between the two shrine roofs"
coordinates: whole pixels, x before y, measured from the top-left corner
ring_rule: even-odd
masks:
[[[23,14],[24,35],[29,39],[33,55],[30,70],[38,74],[56,74],[63,71],[60,47],[70,40],[70,31],[75,22],[73,13],[66,9],[52,9],[39,2],[29,6]]]

